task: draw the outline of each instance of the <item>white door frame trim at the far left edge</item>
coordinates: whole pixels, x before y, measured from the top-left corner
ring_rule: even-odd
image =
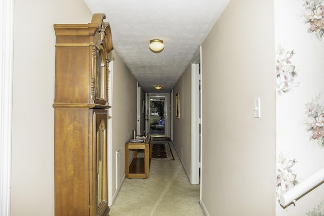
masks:
[[[1,37],[4,38],[1,47],[1,71],[3,74],[0,84],[0,215],[10,215],[11,197],[11,143],[12,143],[12,92],[13,92],[13,44],[14,44],[14,1],[5,0],[0,15],[3,30]]]

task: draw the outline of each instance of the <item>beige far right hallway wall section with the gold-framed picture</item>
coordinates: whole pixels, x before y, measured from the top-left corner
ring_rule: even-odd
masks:
[[[180,119],[176,118],[176,94],[180,93]],[[173,89],[173,143],[188,178],[191,176],[191,67],[186,68]]]

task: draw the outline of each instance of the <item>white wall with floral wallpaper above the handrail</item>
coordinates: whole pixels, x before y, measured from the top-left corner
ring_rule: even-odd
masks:
[[[324,1],[308,1],[324,6]],[[313,117],[307,118],[308,106],[319,94],[318,108],[324,106],[324,38],[317,38],[315,32],[308,32],[310,23],[304,23],[305,17],[309,17],[313,10],[305,9],[306,1],[278,1],[275,0],[275,49],[276,60],[284,67],[291,66],[297,73],[291,81],[292,88],[284,93],[277,88],[277,169],[278,183],[277,196],[284,194],[286,188],[293,187],[294,181],[303,182],[315,171],[324,167],[323,135],[320,139],[312,138],[312,131],[308,131],[308,122],[314,121]],[[317,8],[316,7],[316,8]],[[321,14],[324,16],[324,13]],[[324,33],[324,27],[321,26]],[[320,30],[320,29],[319,29]],[[286,62],[278,54],[294,51],[294,54]],[[287,56],[287,55],[286,55]],[[279,70],[282,72],[282,70]],[[284,73],[280,73],[283,77]],[[282,79],[281,79],[282,80]],[[283,82],[279,82],[283,83]],[[323,113],[324,109],[319,109]],[[318,129],[323,129],[323,119],[317,119]],[[285,161],[286,159],[286,161]],[[290,160],[295,160],[292,162]],[[296,201],[296,205],[286,208],[276,202],[276,215],[322,215],[324,206],[324,185],[321,185]],[[311,213],[311,214],[309,214]]]

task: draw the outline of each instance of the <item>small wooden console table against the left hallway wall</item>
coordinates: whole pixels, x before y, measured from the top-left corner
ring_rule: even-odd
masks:
[[[144,149],[144,157],[137,157],[137,150]],[[133,151],[133,160],[130,164],[129,152]],[[145,179],[149,176],[149,165],[152,155],[152,139],[148,135],[143,142],[128,141],[125,144],[126,178]]]

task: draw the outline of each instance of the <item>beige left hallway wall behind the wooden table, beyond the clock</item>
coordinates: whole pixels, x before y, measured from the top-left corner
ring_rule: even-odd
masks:
[[[113,35],[113,29],[111,29]],[[132,138],[132,130],[136,129],[136,104],[137,104],[137,80],[128,67],[121,60],[117,51],[113,51],[113,83],[112,83],[112,194],[117,195],[116,190],[116,154],[123,148],[125,158],[125,143]],[[109,154],[109,153],[108,153]],[[125,159],[123,169],[119,170],[125,175]],[[119,185],[120,187],[120,185]]]

